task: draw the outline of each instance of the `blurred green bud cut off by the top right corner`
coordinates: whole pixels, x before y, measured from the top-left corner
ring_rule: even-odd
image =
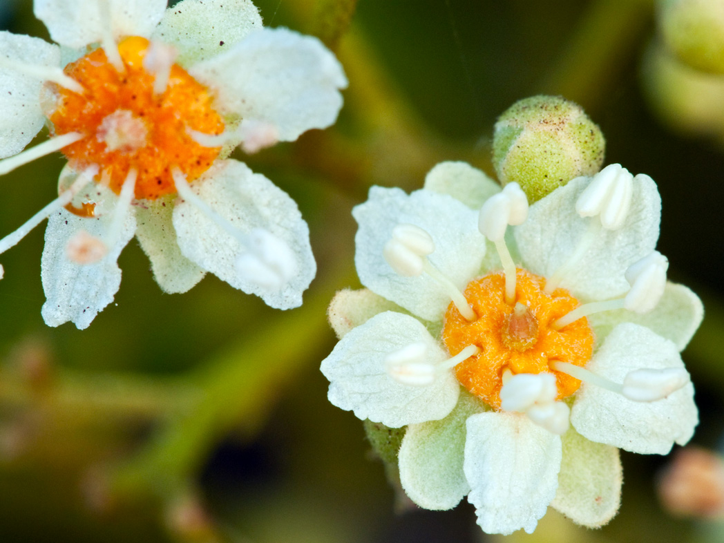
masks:
[[[660,0],[659,27],[682,62],[724,74],[724,0]]]

